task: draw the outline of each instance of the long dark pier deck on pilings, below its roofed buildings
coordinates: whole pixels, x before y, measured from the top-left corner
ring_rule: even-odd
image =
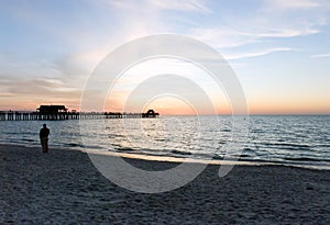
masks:
[[[0,111],[0,121],[63,121],[100,119],[142,119],[157,117],[158,113],[113,113],[113,112],[59,112],[44,114],[40,112]]]

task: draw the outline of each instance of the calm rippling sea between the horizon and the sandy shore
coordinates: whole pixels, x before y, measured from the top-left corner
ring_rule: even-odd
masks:
[[[330,169],[329,115],[160,116],[45,123],[51,128],[51,148]],[[0,142],[38,146],[42,124],[43,121],[1,121]]]

